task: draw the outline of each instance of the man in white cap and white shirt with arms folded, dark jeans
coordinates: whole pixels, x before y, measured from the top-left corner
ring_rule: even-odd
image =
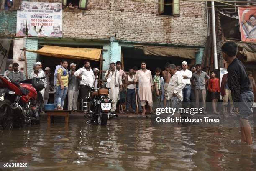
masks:
[[[190,101],[190,78],[192,77],[192,72],[187,69],[187,62],[182,62],[182,70],[178,71],[179,74],[183,77],[186,86],[182,89],[183,95],[183,105],[184,107],[189,107]]]

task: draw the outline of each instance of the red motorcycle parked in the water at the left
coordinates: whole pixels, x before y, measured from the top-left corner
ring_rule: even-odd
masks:
[[[0,75],[0,125],[3,129],[26,124],[40,124],[40,113],[44,99],[40,91],[44,89],[41,79],[32,78],[20,83]]]

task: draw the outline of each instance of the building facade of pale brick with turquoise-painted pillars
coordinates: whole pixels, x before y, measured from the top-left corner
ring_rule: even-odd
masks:
[[[29,50],[37,50],[41,45],[97,47],[105,49],[102,51],[102,57],[104,59],[103,70],[106,70],[110,62],[125,61],[128,63],[133,59],[140,59],[141,56],[143,60],[148,59],[148,56],[135,48],[138,45],[147,45],[196,49],[195,59],[189,59],[190,63],[201,62],[207,40],[205,2],[182,0],[82,1],[85,2],[86,7],[81,10],[63,9],[62,38],[16,37],[17,11],[1,10],[0,15],[3,17],[0,19],[0,35],[13,37],[13,61],[18,61],[21,64],[20,67],[24,67],[23,54],[20,51],[23,47]],[[49,2],[67,5],[66,0],[50,0]],[[169,2],[171,3],[168,4]],[[33,64],[41,60],[42,56],[32,52],[27,52],[26,56],[29,74]],[[159,59],[162,62],[169,60],[175,63],[178,57],[169,59],[159,56],[159,58],[152,59]],[[186,59],[179,58],[177,61],[183,60]]]

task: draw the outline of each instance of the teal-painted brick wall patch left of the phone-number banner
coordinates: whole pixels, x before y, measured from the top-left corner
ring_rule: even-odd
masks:
[[[0,11],[0,37],[16,33],[17,11]]]

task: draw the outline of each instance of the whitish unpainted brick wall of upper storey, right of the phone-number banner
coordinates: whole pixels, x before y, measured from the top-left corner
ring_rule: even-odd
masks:
[[[180,17],[173,17],[159,16],[158,0],[150,0],[153,1],[156,3],[88,0],[88,10],[64,10],[64,37],[115,36],[116,40],[204,46],[207,36],[205,3],[181,1]]]

